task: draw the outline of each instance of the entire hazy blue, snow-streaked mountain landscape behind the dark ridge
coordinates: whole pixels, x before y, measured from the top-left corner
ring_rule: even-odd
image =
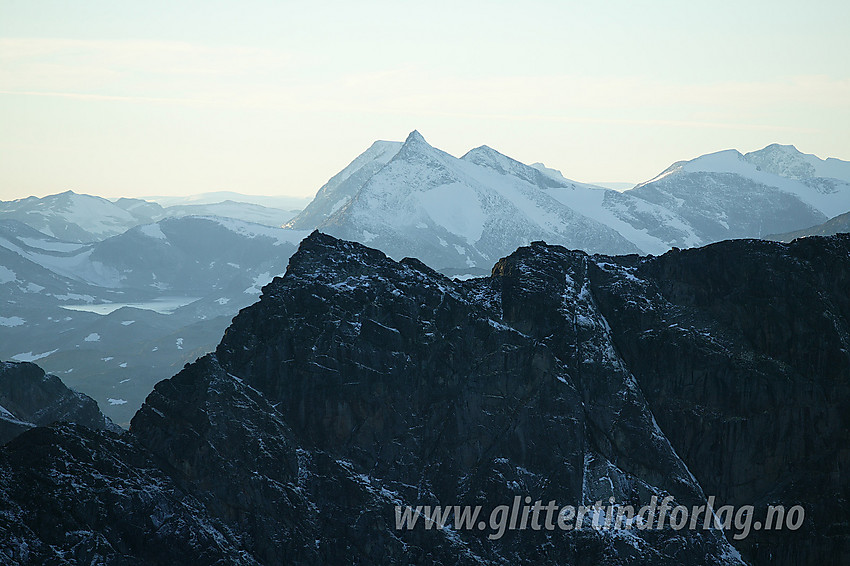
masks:
[[[210,351],[314,229],[464,277],[539,240],[659,255],[846,231],[850,163],[793,146],[729,150],[619,192],[487,146],[457,158],[414,131],[375,142],[304,205],[229,192],[0,202],[0,359],[38,360],[126,426],[153,384]]]

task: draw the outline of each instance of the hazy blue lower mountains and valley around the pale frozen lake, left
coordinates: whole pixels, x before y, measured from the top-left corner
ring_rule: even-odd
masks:
[[[0,221],[0,359],[36,361],[128,424],[208,352],[307,232],[167,218],[92,244]]]

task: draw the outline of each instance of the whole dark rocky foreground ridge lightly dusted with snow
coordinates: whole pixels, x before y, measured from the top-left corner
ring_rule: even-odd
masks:
[[[0,452],[8,564],[830,564],[850,551],[850,237],[489,278],[313,233],[129,434]],[[801,504],[797,531],[395,529],[515,496]],[[731,536],[729,537],[731,539]],[[740,553],[740,554],[739,554]]]

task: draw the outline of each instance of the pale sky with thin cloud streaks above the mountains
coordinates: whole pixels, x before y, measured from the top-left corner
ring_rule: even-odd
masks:
[[[0,0],[0,200],[312,196],[418,129],[631,182],[850,159],[850,2]]]

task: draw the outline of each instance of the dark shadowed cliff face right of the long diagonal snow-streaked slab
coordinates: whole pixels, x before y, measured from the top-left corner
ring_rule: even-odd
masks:
[[[850,236],[732,241],[594,262],[614,341],[706,493],[803,504],[796,532],[738,543],[756,564],[834,562],[845,516]]]

